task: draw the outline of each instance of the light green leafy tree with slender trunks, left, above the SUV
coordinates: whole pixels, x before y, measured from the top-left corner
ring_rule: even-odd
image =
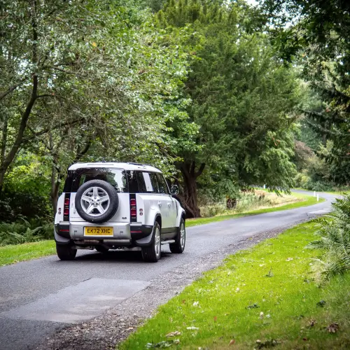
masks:
[[[0,188],[24,148],[52,162],[53,207],[87,151],[171,171],[165,132],[186,54],[162,44],[148,10],[121,3],[2,1]]]

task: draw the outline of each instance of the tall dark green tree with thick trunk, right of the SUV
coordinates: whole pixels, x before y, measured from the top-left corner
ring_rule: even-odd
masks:
[[[230,179],[236,188],[256,183],[289,188],[295,169],[288,112],[295,106],[297,83],[259,32],[258,13],[240,1],[230,6],[169,1],[158,22],[175,34],[178,28],[193,33],[179,40],[193,57],[184,92],[192,100],[188,122],[199,127],[190,133],[195,143],[186,143],[182,128],[173,126],[188,216],[200,216],[197,186],[205,171]]]

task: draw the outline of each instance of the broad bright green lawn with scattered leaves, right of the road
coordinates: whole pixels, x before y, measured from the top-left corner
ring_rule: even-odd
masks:
[[[274,342],[274,349],[349,349],[350,274],[322,288],[312,281],[312,258],[321,252],[304,247],[315,230],[314,223],[297,225],[230,255],[118,348],[160,347],[179,339],[171,349],[261,349]],[[339,325],[335,333],[327,329],[332,323]],[[167,337],[174,331],[181,335]]]

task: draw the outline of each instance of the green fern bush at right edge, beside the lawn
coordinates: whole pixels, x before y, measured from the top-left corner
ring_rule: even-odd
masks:
[[[333,212],[316,219],[319,239],[309,248],[322,248],[325,254],[316,260],[316,277],[325,279],[350,269],[350,195],[332,204]]]

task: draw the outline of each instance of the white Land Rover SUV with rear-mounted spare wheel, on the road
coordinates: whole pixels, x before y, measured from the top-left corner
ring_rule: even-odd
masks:
[[[141,249],[145,261],[160,259],[160,247],[182,253],[185,211],[162,172],[137,163],[77,163],[69,167],[55,216],[61,260],[77,249]]]

